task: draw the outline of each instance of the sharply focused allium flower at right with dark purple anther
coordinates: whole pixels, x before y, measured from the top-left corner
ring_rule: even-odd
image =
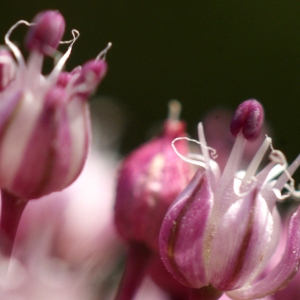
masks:
[[[260,277],[278,245],[275,203],[288,196],[280,193],[283,188],[298,196],[291,176],[300,162],[298,156],[287,167],[284,155],[266,137],[248,168],[240,169],[247,139],[259,133],[262,119],[257,101],[238,107],[231,123],[236,141],[222,174],[210,158],[212,149],[199,124],[202,155],[192,162],[201,168],[169,209],[160,232],[163,262],[179,282],[192,288],[190,299],[206,299],[203,295],[208,294],[218,299],[222,292],[232,299],[261,298],[283,288],[298,270],[300,209],[291,218],[282,259]],[[258,172],[269,149],[271,161]]]

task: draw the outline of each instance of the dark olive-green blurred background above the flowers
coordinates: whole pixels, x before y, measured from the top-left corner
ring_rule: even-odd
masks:
[[[146,139],[149,128],[178,99],[193,132],[216,106],[264,104],[276,148],[289,161],[300,152],[299,1],[3,1],[1,36],[19,19],[58,9],[76,28],[68,70],[113,43],[109,72],[98,95],[113,96],[128,115],[122,152]],[[19,39],[25,29],[12,36]]]

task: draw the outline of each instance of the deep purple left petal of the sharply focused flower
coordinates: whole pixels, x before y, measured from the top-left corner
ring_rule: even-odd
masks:
[[[160,253],[169,272],[184,285],[208,284],[205,270],[205,230],[213,194],[199,170],[168,211],[160,232]]]

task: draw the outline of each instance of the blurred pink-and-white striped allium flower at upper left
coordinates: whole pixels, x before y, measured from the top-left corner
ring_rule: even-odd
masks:
[[[30,26],[27,63],[10,41],[19,24]],[[0,187],[20,198],[39,198],[70,185],[79,175],[90,141],[87,97],[106,73],[104,52],[71,73],[61,72],[68,51],[52,72],[42,75],[45,55],[54,55],[65,21],[57,11],[38,14],[33,23],[16,23],[0,51]]]

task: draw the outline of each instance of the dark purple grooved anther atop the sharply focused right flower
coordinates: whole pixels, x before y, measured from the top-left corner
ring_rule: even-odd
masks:
[[[255,99],[242,102],[236,109],[231,120],[230,131],[237,136],[240,130],[247,140],[255,139],[261,130],[264,121],[264,109]]]

